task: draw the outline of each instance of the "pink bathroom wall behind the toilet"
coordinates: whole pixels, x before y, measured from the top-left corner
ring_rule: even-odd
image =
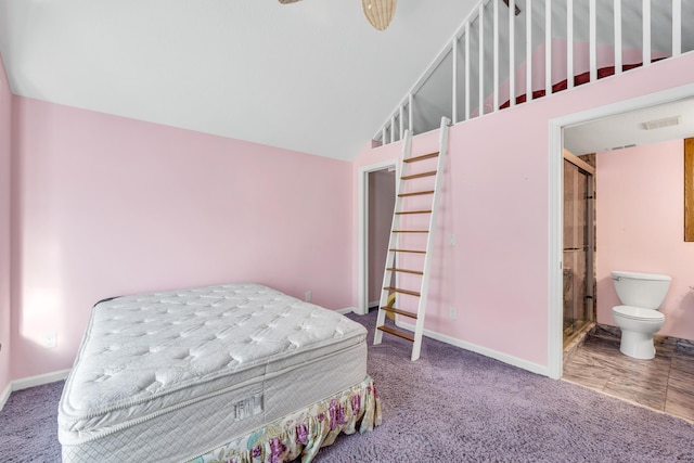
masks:
[[[694,339],[694,243],[684,242],[683,142],[600,153],[597,192],[597,322],[615,325],[619,305],[609,272],[672,276],[658,333]]]

